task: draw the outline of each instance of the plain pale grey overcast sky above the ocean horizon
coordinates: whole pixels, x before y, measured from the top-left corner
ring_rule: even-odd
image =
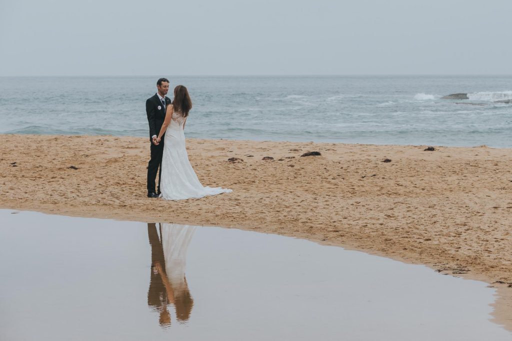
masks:
[[[510,0],[0,0],[0,76],[512,74]]]

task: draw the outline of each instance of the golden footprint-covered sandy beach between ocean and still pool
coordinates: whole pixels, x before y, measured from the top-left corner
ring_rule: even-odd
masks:
[[[497,287],[511,329],[511,150],[426,147],[189,139],[203,185],[233,192],[165,201],[145,196],[148,139],[7,134],[0,207],[219,225],[426,264]]]

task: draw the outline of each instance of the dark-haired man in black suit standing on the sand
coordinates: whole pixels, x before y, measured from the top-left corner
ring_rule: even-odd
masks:
[[[171,103],[171,100],[166,97],[169,91],[169,80],[167,78],[160,78],[157,81],[158,93],[155,96],[146,100],[146,115],[147,122],[150,124],[150,137],[151,137],[151,160],[147,164],[147,197],[158,198],[160,195],[160,179],[162,177],[162,154],[164,136],[160,143],[157,141],[157,136],[162,128],[165,119],[165,108]],[[160,172],[158,172],[160,168]],[[155,179],[158,174],[158,192],[155,191]]]

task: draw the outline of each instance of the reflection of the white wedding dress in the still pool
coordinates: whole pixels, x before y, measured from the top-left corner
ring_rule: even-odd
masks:
[[[175,290],[175,295],[188,290],[185,265],[188,244],[196,232],[196,226],[162,224],[162,248],[165,272]]]

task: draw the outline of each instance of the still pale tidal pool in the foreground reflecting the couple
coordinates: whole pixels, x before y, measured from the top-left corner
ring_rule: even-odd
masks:
[[[341,247],[0,210],[1,340],[510,340],[495,289]]]

